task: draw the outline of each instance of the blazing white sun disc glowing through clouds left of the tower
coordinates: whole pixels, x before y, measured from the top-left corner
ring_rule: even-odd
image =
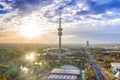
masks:
[[[42,34],[40,26],[34,23],[29,23],[24,26],[20,26],[20,34],[27,38],[35,38]]]

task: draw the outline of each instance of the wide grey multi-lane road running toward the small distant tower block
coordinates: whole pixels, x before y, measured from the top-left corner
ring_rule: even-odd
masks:
[[[91,53],[86,51],[88,58],[92,61],[93,70],[95,72],[97,80],[107,80],[103,75],[101,69],[97,65],[97,61],[92,57]]]

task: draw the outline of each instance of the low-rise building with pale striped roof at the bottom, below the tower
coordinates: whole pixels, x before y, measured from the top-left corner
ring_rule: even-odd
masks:
[[[67,67],[69,66],[67,65]],[[80,80],[80,70],[73,68],[62,66],[62,68],[53,69],[48,76],[48,80]]]

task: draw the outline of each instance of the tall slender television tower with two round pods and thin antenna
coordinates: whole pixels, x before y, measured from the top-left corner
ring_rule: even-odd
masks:
[[[58,36],[59,36],[59,53],[58,53],[58,58],[59,60],[62,59],[62,50],[61,50],[61,36],[62,36],[62,28],[61,28],[61,9],[60,9],[60,13],[59,13],[59,28],[58,28]]]

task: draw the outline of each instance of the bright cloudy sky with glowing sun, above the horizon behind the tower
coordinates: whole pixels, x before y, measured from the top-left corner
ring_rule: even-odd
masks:
[[[0,42],[58,43],[61,10],[62,43],[120,43],[119,4],[120,0],[0,0]]]

